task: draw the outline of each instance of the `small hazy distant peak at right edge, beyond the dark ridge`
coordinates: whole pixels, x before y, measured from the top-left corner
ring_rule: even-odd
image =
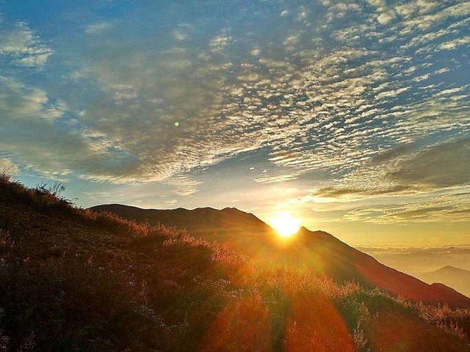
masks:
[[[464,295],[470,296],[470,271],[468,270],[447,265],[436,271],[423,273],[419,278],[428,283],[440,282],[446,284]]]

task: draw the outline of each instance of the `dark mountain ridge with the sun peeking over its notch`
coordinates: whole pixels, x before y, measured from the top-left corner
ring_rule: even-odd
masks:
[[[253,214],[235,208],[159,210],[111,204],[91,209],[109,211],[122,218],[149,222],[150,225],[161,223],[167,227],[186,229],[200,238],[225,242],[247,256],[307,265],[337,282],[354,280],[417,302],[446,302],[453,307],[470,307],[470,298],[454,289],[444,284],[427,284],[382,265],[331,234],[302,227],[294,238],[281,241],[266,223]]]

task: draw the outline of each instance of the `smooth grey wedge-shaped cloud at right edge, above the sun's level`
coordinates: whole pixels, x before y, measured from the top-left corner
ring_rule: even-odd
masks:
[[[416,152],[417,145],[403,145],[372,158],[361,171],[339,185],[320,187],[314,196],[323,198],[374,198],[412,196],[429,191],[462,187],[470,183],[470,140],[434,145]]]

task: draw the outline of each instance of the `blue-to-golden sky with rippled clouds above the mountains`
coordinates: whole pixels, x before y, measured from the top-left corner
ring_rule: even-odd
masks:
[[[470,1],[0,0],[0,169],[470,245],[469,54]]]

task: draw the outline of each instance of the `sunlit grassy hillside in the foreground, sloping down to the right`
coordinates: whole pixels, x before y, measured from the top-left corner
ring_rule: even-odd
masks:
[[[470,312],[0,176],[0,351],[470,351]]]

